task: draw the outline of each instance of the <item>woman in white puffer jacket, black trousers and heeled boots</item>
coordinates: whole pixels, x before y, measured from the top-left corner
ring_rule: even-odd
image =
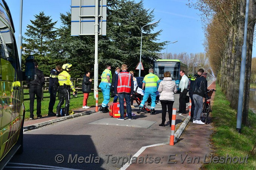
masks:
[[[160,82],[158,91],[160,94],[160,102],[162,105],[162,123],[159,126],[165,126],[166,110],[168,108],[169,122],[171,127],[172,121],[172,106],[174,103],[174,93],[177,92],[175,81],[172,81],[171,73],[165,72],[165,78]]]

